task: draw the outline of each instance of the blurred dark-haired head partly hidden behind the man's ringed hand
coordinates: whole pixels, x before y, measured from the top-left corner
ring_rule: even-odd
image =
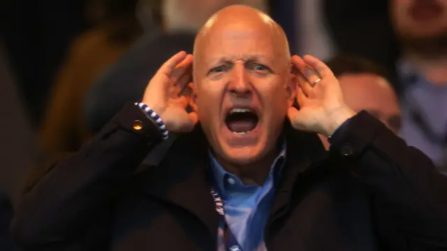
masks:
[[[386,73],[374,62],[352,55],[339,55],[326,63],[342,86],[346,104],[360,112],[367,110],[399,134],[401,115],[399,100]],[[328,139],[321,136],[329,149]]]

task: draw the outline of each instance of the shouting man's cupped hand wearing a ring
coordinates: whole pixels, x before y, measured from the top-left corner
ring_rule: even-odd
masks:
[[[309,55],[303,59],[295,55],[291,62],[298,78],[300,110],[289,108],[288,119],[295,129],[332,136],[356,112],[344,103],[342,87],[323,62]]]

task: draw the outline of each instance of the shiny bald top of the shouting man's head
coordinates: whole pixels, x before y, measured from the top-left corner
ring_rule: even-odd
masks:
[[[290,63],[291,52],[281,26],[261,10],[243,5],[228,6],[210,17],[196,36],[194,59],[200,60],[200,56],[214,38],[243,38],[254,33],[263,34],[261,39],[269,40],[276,49],[280,48],[274,52],[275,57],[281,57],[284,62]]]

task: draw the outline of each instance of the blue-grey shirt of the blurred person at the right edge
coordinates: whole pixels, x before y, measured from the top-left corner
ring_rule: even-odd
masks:
[[[398,73],[404,84],[400,136],[428,155],[447,175],[447,87],[430,83],[407,62],[398,64]],[[415,120],[415,113],[426,129]]]

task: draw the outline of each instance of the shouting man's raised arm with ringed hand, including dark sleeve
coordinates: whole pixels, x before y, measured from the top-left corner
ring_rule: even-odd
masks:
[[[337,78],[312,56],[292,58],[300,110],[288,117],[297,129],[332,136],[354,178],[373,196],[374,223],[387,250],[447,250],[447,177],[366,112],[346,106]]]

